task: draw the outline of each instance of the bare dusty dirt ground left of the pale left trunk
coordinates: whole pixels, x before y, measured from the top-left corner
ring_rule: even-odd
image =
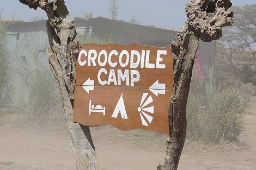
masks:
[[[17,170],[21,167],[24,167],[24,170],[75,169],[66,133],[43,131],[38,128],[0,127],[0,135],[0,170],[15,169],[15,165]],[[4,163],[8,162],[10,165],[5,167],[9,169],[3,169]]]

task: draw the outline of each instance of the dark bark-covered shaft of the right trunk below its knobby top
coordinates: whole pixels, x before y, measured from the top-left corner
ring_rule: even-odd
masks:
[[[186,138],[186,106],[190,80],[199,40],[196,34],[188,32],[184,36],[183,47],[186,51],[181,57],[174,55],[175,91],[169,104],[168,121],[170,137],[167,140],[166,158],[162,169],[177,169]]]

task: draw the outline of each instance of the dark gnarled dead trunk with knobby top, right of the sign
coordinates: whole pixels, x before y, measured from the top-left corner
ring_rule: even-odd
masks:
[[[220,39],[222,27],[233,23],[233,12],[227,11],[231,5],[230,0],[191,0],[186,5],[188,20],[171,46],[175,89],[168,112],[170,137],[166,158],[157,170],[178,169],[186,138],[187,98],[199,39],[207,42]]]

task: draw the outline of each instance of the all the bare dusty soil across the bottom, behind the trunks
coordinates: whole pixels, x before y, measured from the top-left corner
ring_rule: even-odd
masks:
[[[180,170],[256,169],[256,98],[245,116],[241,144],[221,146],[186,142]],[[20,128],[0,119],[0,170],[75,169],[69,137],[64,125]],[[121,132],[111,127],[92,129],[97,158],[104,170],[156,169],[164,159],[163,135],[154,138],[141,130]]]

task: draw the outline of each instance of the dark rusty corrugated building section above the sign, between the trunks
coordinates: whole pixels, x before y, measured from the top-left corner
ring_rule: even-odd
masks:
[[[93,33],[109,40],[112,38],[116,43],[129,45],[141,43],[142,45],[166,47],[175,39],[177,32],[156,27],[131,24],[125,21],[111,20],[105,17],[85,18],[75,17],[77,28],[89,28],[92,26]]]

